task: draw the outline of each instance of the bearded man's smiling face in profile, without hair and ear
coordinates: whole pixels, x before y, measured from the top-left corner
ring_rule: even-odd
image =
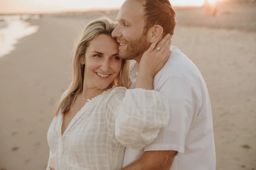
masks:
[[[141,56],[150,46],[147,34],[144,34],[145,21],[143,4],[136,0],[126,0],[117,16],[118,25],[112,32],[122,59],[132,60]]]

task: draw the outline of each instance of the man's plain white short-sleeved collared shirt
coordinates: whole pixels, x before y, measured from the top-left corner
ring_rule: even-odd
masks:
[[[140,159],[144,151],[176,150],[171,170],[215,170],[213,118],[206,83],[196,65],[177,47],[154,77],[154,90],[169,100],[168,127],[142,150],[126,148],[123,167]],[[129,78],[135,87],[139,64],[131,62]]]

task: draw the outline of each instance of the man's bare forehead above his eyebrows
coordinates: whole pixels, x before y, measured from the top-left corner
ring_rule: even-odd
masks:
[[[137,0],[126,0],[120,8],[117,19],[128,22],[141,20],[144,15],[143,4]]]

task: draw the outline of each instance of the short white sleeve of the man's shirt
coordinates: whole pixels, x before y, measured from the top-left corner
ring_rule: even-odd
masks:
[[[189,83],[178,77],[167,78],[158,91],[168,98],[170,118],[168,126],[160,130],[156,140],[147,145],[144,151],[176,150],[184,153],[185,137],[193,119],[196,94]]]

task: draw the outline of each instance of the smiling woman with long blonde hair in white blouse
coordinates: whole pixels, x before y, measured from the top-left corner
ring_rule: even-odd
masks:
[[[94,20],[78,39],[73,81],[47,134],[47,169],[119,170],[125,147],[144,148],[168,123],[168,101],[159,92],[126,89],[129,64],[118,57],[118,43],[111,37],[115,25],[107,18]],[[169,39],[160,42],[161,50],[156,43],[142,57],[137,88],[153,86],[154,75],[168,59]]]

